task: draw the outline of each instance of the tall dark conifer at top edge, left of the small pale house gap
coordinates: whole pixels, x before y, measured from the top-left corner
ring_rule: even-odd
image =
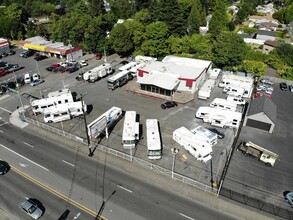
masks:
[[[202,17],[202,6],[200,0],[193,0],[191,11],[188,17],[188,33],[199,33],[199,27],[205,25],[205,17]]]

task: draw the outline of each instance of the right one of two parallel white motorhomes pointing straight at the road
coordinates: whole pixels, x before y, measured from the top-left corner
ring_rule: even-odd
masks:
[[[162,157],[162,143],[157,119],[146,119],[148,158],[158,160]]]

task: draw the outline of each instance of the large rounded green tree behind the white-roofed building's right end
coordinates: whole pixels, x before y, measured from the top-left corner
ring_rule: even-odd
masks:
[[[242,63],[247,46],[243,38],[233,32],[221,32],[212,48],[213,62],[219,68],[238,66]]]

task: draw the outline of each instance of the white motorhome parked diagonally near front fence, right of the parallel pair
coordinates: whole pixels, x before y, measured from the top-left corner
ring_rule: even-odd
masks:
[[[211,145],[197,139],[196,135],[185,127],[178,128],[173,132],[173,140],[199,161],[206,163],[212,159]]]

